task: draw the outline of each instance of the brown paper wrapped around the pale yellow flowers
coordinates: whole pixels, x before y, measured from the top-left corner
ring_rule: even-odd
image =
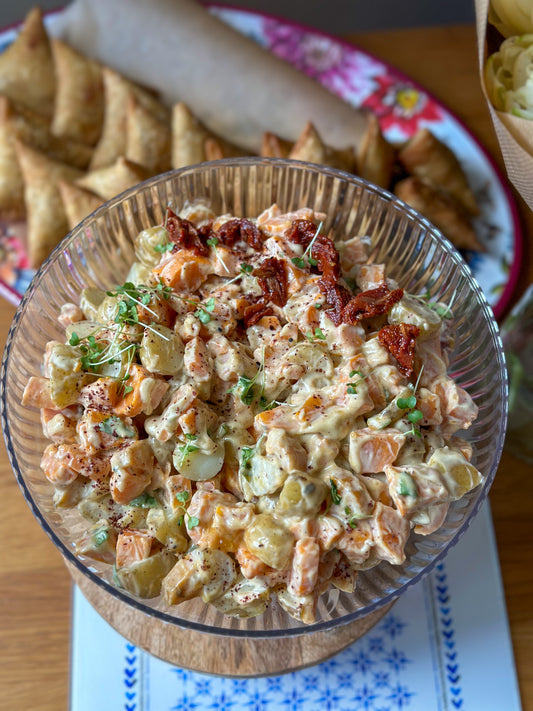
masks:
[[[476,24],[481,85],[492,122],[498,136],[500,149],[509,180],[533,210],[533,121],[497,111],[488,98],[484,66],[487,57],[487,17],[489,0],[476,0]]]

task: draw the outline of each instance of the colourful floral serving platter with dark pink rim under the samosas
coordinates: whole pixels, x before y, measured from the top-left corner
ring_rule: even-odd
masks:
[[[210,5],[239,32],[315,78],[348,103],[371,109],[389,141],[401,143],[428,127],[449,145],[480,205],[475,229],[485,252],[465,252],[496,317],[504,312],[518,278],[522,235],[507,184],[477,139],[453,114],[394,67],[316,30],[248,10]],[[47,16],[54,22],[56,13]],[[0,33],[0,51],[16,30]],[[24,246],[23,223],[0,222],[0,295],[18,304],[34,272]]]

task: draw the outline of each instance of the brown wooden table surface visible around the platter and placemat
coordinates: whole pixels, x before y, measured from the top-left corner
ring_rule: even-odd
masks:
[[[447,105],[502,167],[477,72],[473,26],[351,35]],[[517,206],[526,235],[514,300],[533,281],[533,216]],[[2,302],[5,342],[15,309]],[[0,707],[59,711],[68,706],[71,584],[61,556],[34,520],[0,448]],[[490,494],[505,598],[525,711],[533,710],[533,467],[503,455]],[[494,650],[497,654],[497,650]],[[104,711],[104,710],[102,710]],[[502,709],[501,711],[505,711]]]

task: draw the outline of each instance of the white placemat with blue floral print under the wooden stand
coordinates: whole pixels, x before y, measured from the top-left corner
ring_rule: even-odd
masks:
[[[74,593],[71,711],[520,711],[492,519],[363,638],[259,679],[178,669],[130,644]]]

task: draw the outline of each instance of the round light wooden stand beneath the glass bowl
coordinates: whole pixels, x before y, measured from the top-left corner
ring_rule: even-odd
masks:
[[[342,627],[281,639],[237,639],[180,629],[106,594],[67,563],[72,579],[98,614],[137,647],[175,666],[231,677],[276,676],[333,657],[368,632],[393,603]]]

